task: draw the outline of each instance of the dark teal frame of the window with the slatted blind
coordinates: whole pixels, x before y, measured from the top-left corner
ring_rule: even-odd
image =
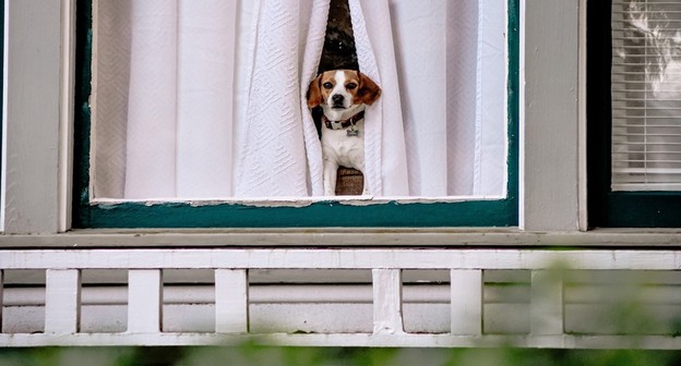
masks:
[[[610,0],[587,13],[588,217],[593,228],[681,228],[681,192],[613,192]]]

